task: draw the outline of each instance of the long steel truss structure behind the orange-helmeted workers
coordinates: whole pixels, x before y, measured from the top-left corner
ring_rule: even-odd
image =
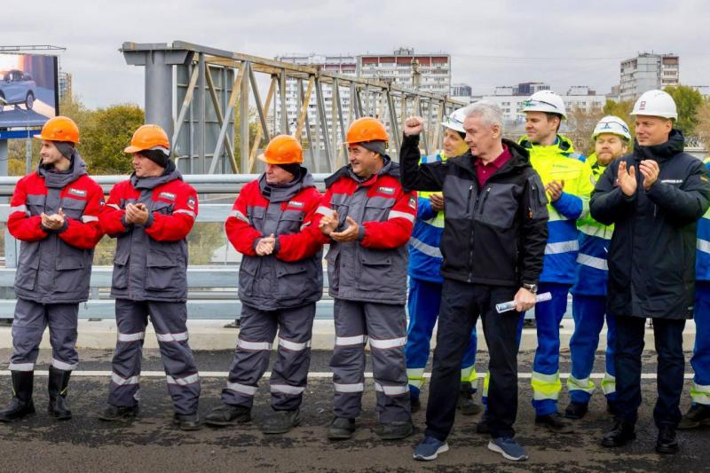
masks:
[[[422,148],[428,154],[441,145],[438,122],[466,105],[394,83],[182,41],[123,43],[120,51],[129,65],[146,68],[146,122],[169,131],[180,169],[191,174],[255,172],[260,146],[273,134],[300,137],[306,165],[314,172],[332,172],[346,161],[343,142],[349,123],[362,116],[385,122],[389,154],[395,158],[406,116],[426,117],[426,130],[433,131],[422,135]],[[288,120],[287,81],[298,84],[300,112],[295,126]],[[350,92],[347,104],[342,100],[344,89]],[[330,119],[326,91],[332,97]],[[270,116],[277,96],[278,122]],[[312,99],[315,116],[308,110]],[[252,120],[256,120],[256,136],[249,137]]]

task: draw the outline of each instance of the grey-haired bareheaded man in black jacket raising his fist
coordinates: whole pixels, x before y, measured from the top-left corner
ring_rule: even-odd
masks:
[[[500,107],[477,102],[463,128],[470,151],[446,162],[419,164],[423,119],[407,119],[402,182],[407,189],[442,191],[446,220],[441,239],[444,276],[437,348],[431,374],[427,430],[414,458],[446,452],[454,425],[461,359],[471,328],[483,318],[489,363],[488,448],[509,460],[527,458],[513,439],[517,415],[517,325],[533,307],[547,243],[548,210],[540,176],[525,148],[502,139]],[[495,304],[514,300],[516,311]]]

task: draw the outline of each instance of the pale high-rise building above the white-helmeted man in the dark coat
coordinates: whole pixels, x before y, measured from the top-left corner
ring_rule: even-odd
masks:
[[[635,100],[645,91],[680,83],[680,60],[675,54],[642,52],[621,61],[619,98]]]

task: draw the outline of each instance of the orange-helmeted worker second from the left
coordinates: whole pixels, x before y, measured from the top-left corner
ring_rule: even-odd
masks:
[[[138,414],[140,358],[148,315],[158,338],[173,422],[200,429],[200,376],[187,343],[187,234],[197,217],[197,193],[170,160],[168,135],[157,125],[133,134],[130,179],[111,189],[99,219],[116,241],[111,296],[116,300],[118,340],[102,421]]]

